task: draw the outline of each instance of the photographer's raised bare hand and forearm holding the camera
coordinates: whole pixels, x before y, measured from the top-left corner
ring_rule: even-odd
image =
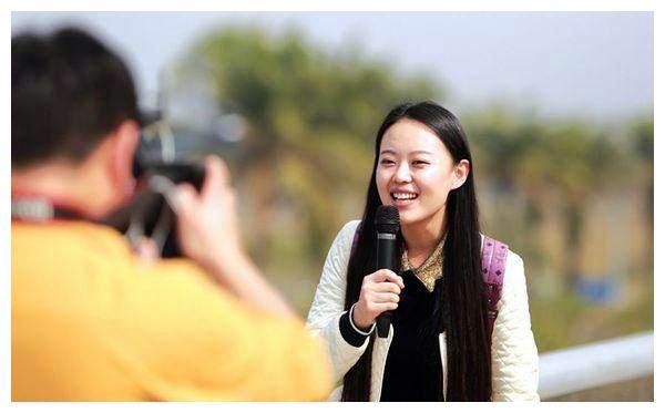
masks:
[[[238,298],[295,317],[242,248],[236,195],[226,164],[209,156],[205,169],[201,193],[190,184],[181,184],[172,200],[181,249]]]

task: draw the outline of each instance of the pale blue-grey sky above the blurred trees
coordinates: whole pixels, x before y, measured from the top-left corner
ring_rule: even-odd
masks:
[[[296,24],[329,51],[356,43],[402,73],[429,73],[448,107],[492,103],[542,116],[653,112],[652,12],[12,12],[12,33],[83,24],[117,50],[144,100],[157,74],[215,28]]]

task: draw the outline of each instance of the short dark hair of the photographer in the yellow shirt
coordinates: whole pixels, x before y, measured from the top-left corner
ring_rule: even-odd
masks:
[[[83,161],[125,120],[139,121],[132,75],[86,32],[11,39],[11,165]]]

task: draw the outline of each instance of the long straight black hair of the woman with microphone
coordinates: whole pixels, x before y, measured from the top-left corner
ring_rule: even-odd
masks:
[[[456,163],[471,166],[466,183],[451,190],[446,204],[447,238],[443,248],[443,277],[437,281],[436,310],[429,320],[433,333],[446,331],[448,349],[447,401],[490,401],[491,337],[483,299],[480,228],[473,186],[473,164],[464,131],[457,117],[433,102],[401,104],[383,120],[376,137],[375,162],[357,247],[347,269],[345,308],[358,300],[362,278],[376,270],[375,214],[381,205],[376,185],[377,162],[386,131],[400,120],[428,126],[446,145]],[[401,239],[401,234],[400,234]],[[401,254],[398,251],[398,254]],[[399,260],[397,261],[399,262]],[[369,400],[371,352],[375,337],[344,379],[342,401]],[[424,357],[424,354],[423,354]]]

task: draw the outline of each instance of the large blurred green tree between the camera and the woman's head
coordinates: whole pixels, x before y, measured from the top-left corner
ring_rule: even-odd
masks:
[[[330,234],[360,214],[374,134],[387,111],[442,96],[433,81],[399,75],[393,62],[367,59],[357,44],[325,53],[305,38],[295,28],[274,35],[227,28],[205,37],[192,56],[209,63],[219,102],[250,125],[235,164],[250,192],[252,230],[262,235],[248,240],[264,262],[284,237],[275,220],[290,219],[287,229],[298,228],[307,244],[287,261],[320,264]]]

